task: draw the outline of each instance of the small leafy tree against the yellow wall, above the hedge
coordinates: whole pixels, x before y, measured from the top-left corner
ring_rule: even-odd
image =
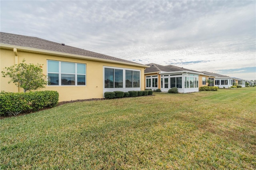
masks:
[[[42,65],[26,64],[22,63],[5,67],[4,71],[1,71],[3,77],[10,77],[11,80],[8,83],[13,82],[17,87],[24,89],[24,92],[28,90],[36,90],[44,88],[47,85],[46,75],[43,74]]]

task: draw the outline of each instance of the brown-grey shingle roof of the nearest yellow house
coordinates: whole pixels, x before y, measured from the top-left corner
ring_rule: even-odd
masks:
[[[108,59],[113,61],[121,61],[126,63],[135,63],[133,61],[128,61],[116,57],[111,57],[109,55],[104,55],[68,45],[62,45],[62,43],[51,42],[48,40],[44,40],[37,37],[30,37],[30,36],[22,36],[18,34],[10,34],[5,32],[0,32],[0,43],[8,44],[8,45],[17,45],[21,47],[30,47],[35,49],[43,49],[49,51],[56,51],[62,53],[69,53],[75,55],[82,55],[87,57],[95,57],[100,59]],[[141,64],[140,64],[141,65]]]

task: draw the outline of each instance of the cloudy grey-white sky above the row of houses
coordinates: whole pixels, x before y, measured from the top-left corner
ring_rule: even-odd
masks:
[[[0,31],[256,80],[256,1],[4,1]]]

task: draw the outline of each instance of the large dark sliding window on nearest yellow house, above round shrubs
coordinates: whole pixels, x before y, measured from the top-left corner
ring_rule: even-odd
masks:
[[[140,87],[140,71],[117,67],[104,67],[105,88]]]

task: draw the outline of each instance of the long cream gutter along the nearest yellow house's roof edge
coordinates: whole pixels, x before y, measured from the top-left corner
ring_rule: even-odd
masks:
[[[36,49],[36,48],[30,48],[30,47],[22,47],[22,46],[9,45],[9,44],[3,44],[3,43],[0,43],[0,47],[3,48],[3,49],[12,49],[12,50],[16,49],[16,52],[17,51],[26,51],[26,52],[30,52],[30,53],[40,53],[40,54],[48,54],[48,55],[55,55],[55,56],[61,56],[61,57],[87,59],[87,60],[92,60],[92,61],[101,61],[101,62],[106,62],[106,63],[117,63],[117,64],[123,64],[123,65],[144,67],[144,68],[150,67],[149,65],[143,65],[143,64],[139,64],[139,63],[138,64],[137,63],[127,63],[127,62],[123,62],[123,61],[115,61],[115,60],[110,60],[110,59],[101,59],[101,58],[89,57],[89,56],[84,56],[84,55],[62,53],[62,52],[57,52],[57,51],[50,51],[50,50],[45,50],[45,49]]]

